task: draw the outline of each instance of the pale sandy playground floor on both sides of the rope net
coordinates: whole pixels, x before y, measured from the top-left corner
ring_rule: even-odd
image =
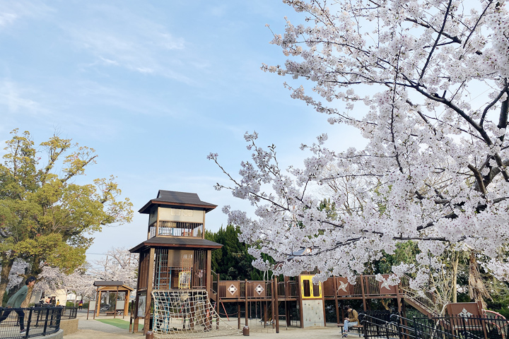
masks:
[[[86,320],[86,311],[78,311],[78,332],[65,335],[64,339],[145,339],[142,333],[129,333],[127,330],[118,328],[116,326],[102,323],[100,321],[93,320],[92,314],[88,316]],[[113,319],[112,316],[100,316],[98,319]],[[122,316],[117,316],[117,319],[122,319]],[[124,319],[129,322],[129,319]],[[228,322],[231,326],[237,326],[237,321]],[[243,326],[243,322],[242,322]],[[320,339],[339,339],[341,338],[341,329],[337,327],[320,327],[320,328],[286,328],[281,327],[279,333],[272,328],[264,328],[263,326],[250,325],[250,336],[243,337],[240,333],[238,335],[226,335],[215,338],[257,338],[257,339],[296,339],[296,338],[320,338]],[[359,338],[356,334],[351,334],[349,338]]]

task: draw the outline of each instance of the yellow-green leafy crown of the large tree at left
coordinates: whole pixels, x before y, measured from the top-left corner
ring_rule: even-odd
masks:
[[[85,261],[90,234],[132,218],[115,177],[76,184],[95,163],[95,150],[57,135],[37,150],[28,131],[11,134],[0,164],[0,300],[16,258],[29,263],[26,275],[44,266],[72,272]]]

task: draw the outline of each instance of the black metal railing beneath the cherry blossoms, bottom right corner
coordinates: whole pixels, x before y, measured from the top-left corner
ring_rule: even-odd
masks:
[[[444,316],[406,319],[397,314],[390,321],[363,315],[365,339],[509,339],[509,321],[479,316]]]

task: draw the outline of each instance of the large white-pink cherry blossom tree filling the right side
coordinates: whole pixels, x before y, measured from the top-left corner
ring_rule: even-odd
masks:
[[[277,273],[316,267],[317,278],[353,282],[382,251],[413,240],[417,264],[394,266],[391,283],[412,271],[411,287],[426,288],[452,245],[507,280],[507,1],[283,2],[305,20],[286,18],[271,43],[288,59],[262,70],[291,76],[291,97],[330,124],[358,129],[367,145],[337,150],[324,134],[302,145],[310,152],[302,168],[285,172],[275,146],[259,147],[257,133],[246,133],[252,159],[240,177],[209,155],[230,182],[216,188],[255,206],[254,218],[223,208],[254,245],[254,266],[264,269],[264,253],[281,263]],[[337,213],[327,213],[316,192],[334,180],[344,180],[349,196],[329,190]]]

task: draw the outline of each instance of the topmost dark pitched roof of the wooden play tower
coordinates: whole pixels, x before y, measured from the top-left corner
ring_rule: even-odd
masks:
[[[175,207],[194,207],[200,208],[209,212],[217,207],[213,203],[206,203],[205,201],[201,201],[198,194],[196,193],[187,193],[187,192],[176,192],[176,191],[164,191],[160,189],[158,192],[158,196],[148,203],[145,204],[144,207],[139,210],[139,213],[150,213],[150,208],[153,205],[168,205]]]

